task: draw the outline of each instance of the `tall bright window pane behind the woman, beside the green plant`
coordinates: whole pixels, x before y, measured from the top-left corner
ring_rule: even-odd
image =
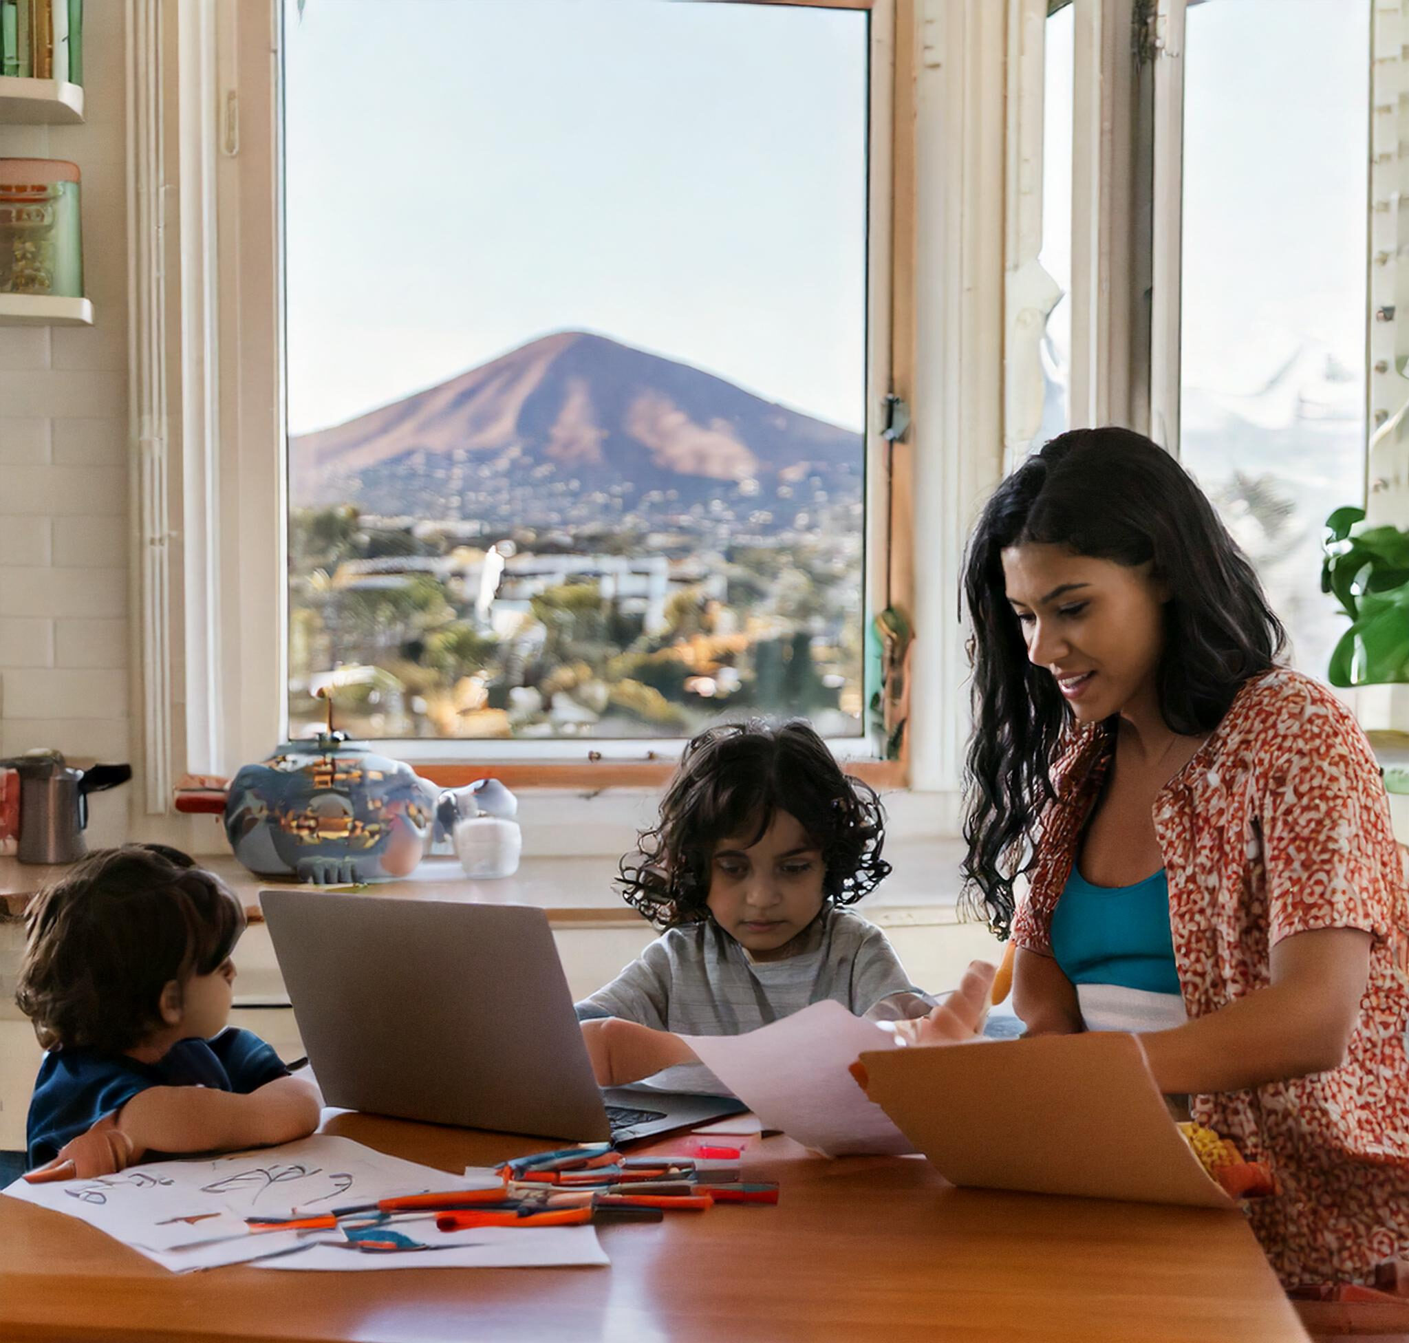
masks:
[[[1364,502],[1368,0],[1209,0],[1185,38],[1181,458],[1326,676],[1322,524]]]

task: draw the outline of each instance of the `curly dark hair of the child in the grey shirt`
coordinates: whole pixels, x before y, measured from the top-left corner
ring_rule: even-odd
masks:
[[[710,727],[685,747],[659,823],[621,860],[623,898],[661,929],[707,919],[716,843],[748,831],[757,844],[775,812],[797,817],[821,850],[834,905],[854,905],[890,871],[875,791],[844,774],[807,723],[752,720]]]

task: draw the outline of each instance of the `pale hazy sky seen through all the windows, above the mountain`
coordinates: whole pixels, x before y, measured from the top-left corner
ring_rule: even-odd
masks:
[[[572,327],[861,426],[864,16],[287,3],[294,433]],[[1188,386],[1251,390],[1305,340],[1363,359],[1368,13],[1189,10]],[[1048,114],[1069,118],[1071,8],[1048,32]],[[1069,124],[1047,131],[1043,258],[1065,283]]]

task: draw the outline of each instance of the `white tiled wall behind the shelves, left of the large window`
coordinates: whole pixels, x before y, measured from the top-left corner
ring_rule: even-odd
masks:
[[[87,121],[0,125],[0,158],[82,172],[93,327],[0,327],[0,755],[131,758],[124,6],[85,16]],[[92,798],[127,833],[130,788]]]

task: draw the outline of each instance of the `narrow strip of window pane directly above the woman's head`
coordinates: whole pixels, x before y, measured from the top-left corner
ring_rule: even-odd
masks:
[[[1047,16],[1043,78],[1043,249],[1037,259],[1061,286],[1043,340],[1043,424],[1033,447],[1071,428],[1071,155],[1075,104],[1075,17],[1067,4]]]

